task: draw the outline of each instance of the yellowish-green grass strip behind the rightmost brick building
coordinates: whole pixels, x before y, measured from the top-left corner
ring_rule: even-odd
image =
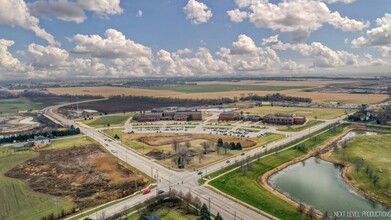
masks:
[[[344,109],[332,108],[301,108],[301,107],[281,107],[281,106],[262,106],[255,108],[242,109],[241,111],[250,114],[297,114],[307,118],[333,119],[345,115]]]

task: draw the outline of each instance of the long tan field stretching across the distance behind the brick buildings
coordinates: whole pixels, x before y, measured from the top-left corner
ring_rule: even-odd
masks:
[[[321,86],[320,82],[315,83],[315,86]],[[232,84],[232,83],[231,83]],[[272,84],[272,82],[267,82],[267,84]],[[284,85],[285,84],[285,85]],[[332,92],[306,92],[305,89],[298,89],[297,87],[290,87],[293,84],[292,82],[280,82],[278,87],[277,82],[274,85],[270,85],[270,88],[284,88],[284,90],[276,91],[274,90],[236,90],[236,91],[227,91],[217,92],[210,91],[211,88],[203,88],[197,92],[191,91],[191,93],[180,92],[164,89],[141,89],[141,88],[130,88],[130,87],[113,87],[113,86],[99,86],[99,87],[70,87],[70,88],[49,88],[48,91],[62,95],[62,94],[71,94],[71,95],[102,95],[105,97],[114,96],[114,95],[134,95],[134,96],[153,96],[153,97],[173,97],[173,98],[233,98],[241,97],[242,95],[247,95],[248,93],[256,95],[267,95],[275,92],[281,94],[290,95],[290,96],[299,96],[304,98],[311,98],[313,102],[317,103],[326,103],[326,102],[344,102],[344,103],[379,103],[388,98],[385,94],[349,94],[349,93],[332,93]],[[311,87],[309,83],[297,83],[296,86],[302,87]],[[215,84],[214,84],[215,85]],[[223,83],[222,83],[223,85]],[[268,85],[269,86],[269,85]],[[283,87],[284,86],[284,87]],[[213,85],[211,85],[213,87]],[[162,87],[159,87],[162,88]],[[266,88],[266,87],[263,87]],[[288,89],[289,88],[289,89]],[[209,90],[209,92],[205,92]]]

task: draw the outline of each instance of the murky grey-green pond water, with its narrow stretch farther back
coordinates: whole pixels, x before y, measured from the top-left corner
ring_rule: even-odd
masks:
[[[351,132],[345,137],[362,134],[373,133]],[[355,192],[343,180],[341,169],[311,157],[271,176],[269,183],[293,200],[338,219],[391,219],[391,209]]]

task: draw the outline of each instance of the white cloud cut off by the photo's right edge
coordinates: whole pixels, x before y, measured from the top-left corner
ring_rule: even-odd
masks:
[[[376,19],[376,27],[367,30],[366,36],[352,41],[353,47],[376,47],[383,56],[391,54],[391,14]]]

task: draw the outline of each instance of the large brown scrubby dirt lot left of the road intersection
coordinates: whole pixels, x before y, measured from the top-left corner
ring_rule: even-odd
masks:
[[[135,182],[140,189],[148,181],[96,144],[41,151],[5,175],[26,180],[34,191],[70,197],[81,208],[130,195],[136,190]]]

